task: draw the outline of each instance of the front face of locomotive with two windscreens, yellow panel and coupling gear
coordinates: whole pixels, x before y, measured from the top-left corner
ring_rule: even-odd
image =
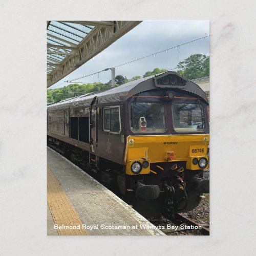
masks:
[[[173,217],[195,208],[202,193],[209,193],[209,182],[202,179],[209,161],[208,102],[196,84],[177,74],[154,80],[157,89],[133,95],[126,103],[129,127],[124,160],[126,186],[131,188],[126,193],[135,189],[137,207],[143,205],[145,211],[141,198],[147,200],[147,191],[148,200],[158,200]],[[189,91],[184,90],[187,87]],[[191,92],[193,87],[197,90]],[[141,117],[146,122],[143,130]],[[137,186],[143,191],[141,196]],[[150,212],[144,215],[150,216]]]

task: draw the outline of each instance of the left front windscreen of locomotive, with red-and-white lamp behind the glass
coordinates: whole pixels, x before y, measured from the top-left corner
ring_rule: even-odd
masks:
[[[162,133],[166,130],[162,103],[133,102],[130,105],[131,130],[134,133]]]

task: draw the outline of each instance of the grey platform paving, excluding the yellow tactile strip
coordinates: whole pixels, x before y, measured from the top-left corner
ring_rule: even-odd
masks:
[[[49,147],[47,166],[89,235],[165,235],[109,189]],[[50,207],[47,233],[56,235],[58,232],[54,229],[52,215]]]

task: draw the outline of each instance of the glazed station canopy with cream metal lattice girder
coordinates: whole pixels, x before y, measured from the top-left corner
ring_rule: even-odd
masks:
[[[47,22],[47,88],[129,32],[139,21]]]

